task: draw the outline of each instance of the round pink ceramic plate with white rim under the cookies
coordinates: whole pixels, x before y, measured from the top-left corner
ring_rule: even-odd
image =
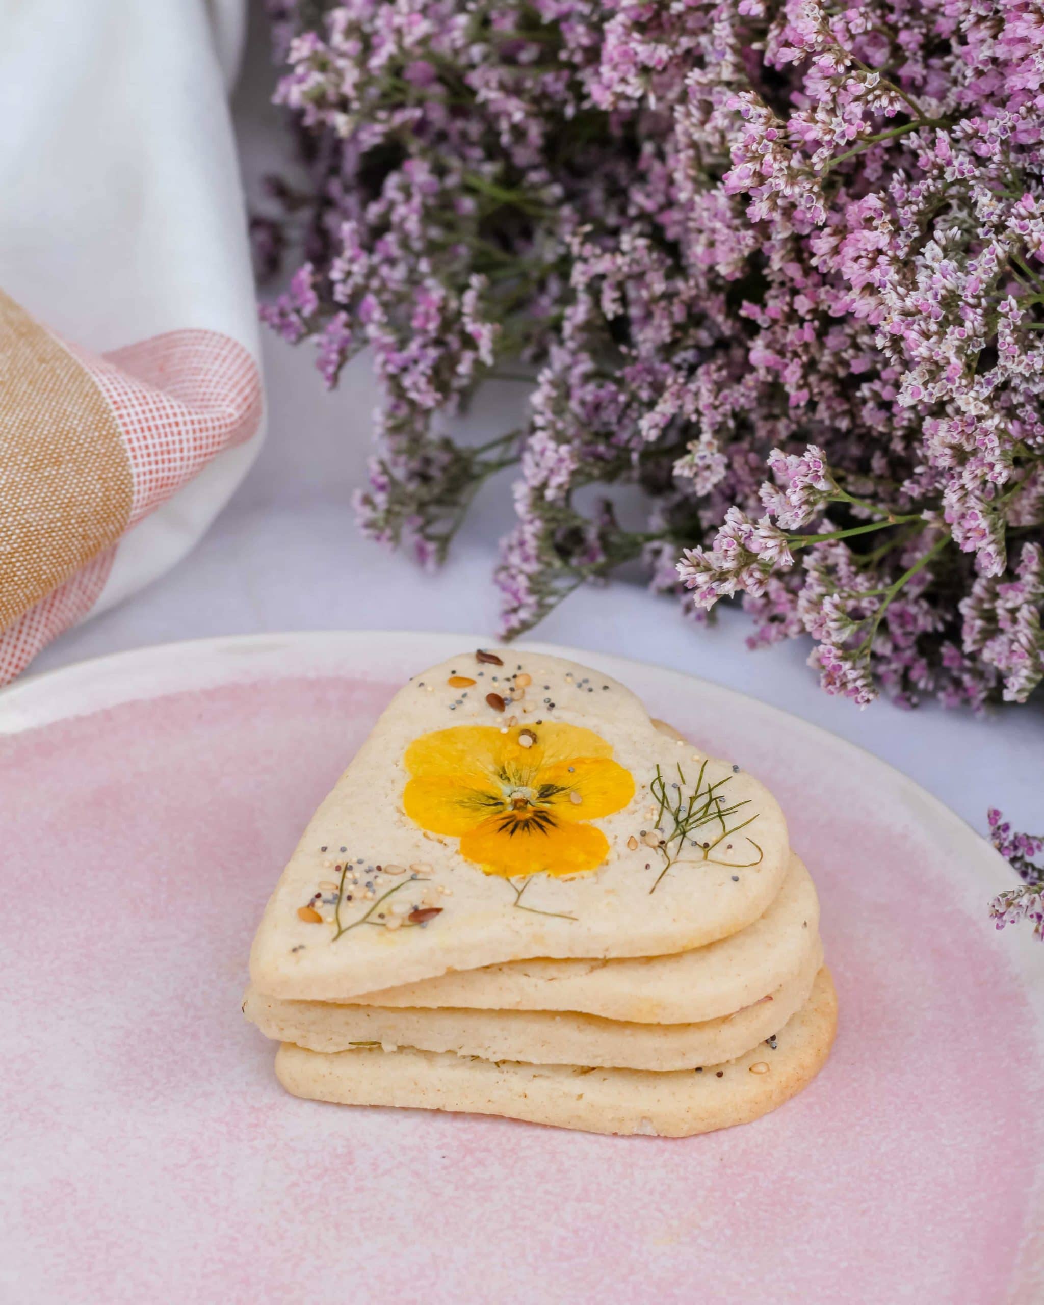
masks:
[[[392,693],[476,643],[207,641],[0,696],[0,1298],[1044,1300],[1040,953],[985,915],[1010,872],[867,753],[654,667],[547,650],[776,792],[840,996],[813,1086],[688,1141],[283,1095],[239,1010],[265,898]]]

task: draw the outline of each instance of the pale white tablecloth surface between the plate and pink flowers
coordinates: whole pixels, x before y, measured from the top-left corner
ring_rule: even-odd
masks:
[[[284,141],[266,104],[271,73],[253,33],[236,123],[248,184],[278,166]],[[123,606],[46,650],[34,671],[141,645],[210,634],[300,629],[496,629],[492,569],[510,519],[509,480],[487,487],[436,576],[364,540],[348,500],[369,452],[376,390],[365,360],[326,394],[308,347],[265,339],[269,437],[231,505],[175,570]],[[482,395],[467,427],[485,437],[509,429],[519,385]],[[536,634],[690,671],[813,720],[919,780],[976,830],[990,805],[1018,827],[1044,827],[1044,710],[1006,709],[975,719],[934,705],[902,711],[878,702],[859,711],[827,698],[804,664],[806,646],[748,652],[749,624],[724,612],[697,629],[677,604],[616,582],[576,592]]]

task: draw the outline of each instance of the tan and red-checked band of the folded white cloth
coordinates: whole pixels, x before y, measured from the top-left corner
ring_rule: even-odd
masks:
[[[91,355],[0,291],[0,684],[94,607],[125,532],[260,420],[257,364],[228,335]]]

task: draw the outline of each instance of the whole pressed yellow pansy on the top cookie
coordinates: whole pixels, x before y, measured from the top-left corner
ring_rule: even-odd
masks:
[[[422,735],[403,758],[406,814],[461,839],[487,874],[582,874],[608,839],[589,821],[634,796],[630,773],[591,729],[568,724],[458,726]]]

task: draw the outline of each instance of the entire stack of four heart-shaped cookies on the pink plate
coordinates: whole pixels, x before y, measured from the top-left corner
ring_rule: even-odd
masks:
[[[512,650],[392,701],[268,904],[244,1010],[298,1096],[663,1137],[793,1096],[837,1019],[763,786]]]

